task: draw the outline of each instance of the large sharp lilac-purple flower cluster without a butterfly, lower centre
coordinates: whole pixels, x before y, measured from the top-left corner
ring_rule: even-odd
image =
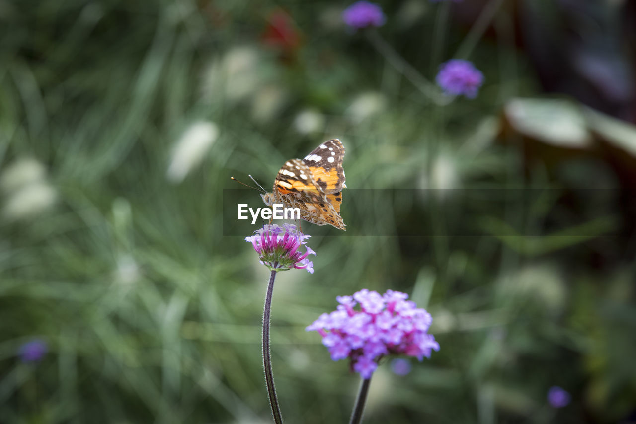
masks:
[[[427,333],[431,314],[406,299],[408,294],[392,290],[380,295],[363,289],[353,296],[338,296],[338,308],[323,313],[306,330],[321,334],[331,359],[349,358],[354,371],[370,378],[386,355],[422,360],[431,357],[431,350],[439,350]],[[360,310],[354,309],[357,305]]]

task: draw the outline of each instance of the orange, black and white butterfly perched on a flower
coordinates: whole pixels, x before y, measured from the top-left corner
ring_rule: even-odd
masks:
[[[291,159],[280,168],[272,193],[261,195],[266,205],[282,203],[300,209],[300,218],[316,225],[345,230],[340,216],[345,170],[345,147],[338,139],[322,143],[303,160]]]

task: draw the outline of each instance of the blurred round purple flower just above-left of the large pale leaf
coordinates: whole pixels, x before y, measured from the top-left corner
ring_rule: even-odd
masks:
[[[451,59],[439,66],[436,81],[447,94],[474,99],[483,84],[483,74],[468,60]]]

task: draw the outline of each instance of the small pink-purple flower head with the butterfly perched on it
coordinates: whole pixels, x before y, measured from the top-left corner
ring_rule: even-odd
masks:
[[[315,255],[315,252],[305,245],[305,240],[310,236],[300,233],[296,226],[265,225],[254,233],[253,236],[245,237],[245,241],[252,243],[261,258],[261,264],[272,271],[298,268],[314,273],[314,263],[307,259],[307,255]],[[304,254],[298,250],[302,245],[307,249]]]

